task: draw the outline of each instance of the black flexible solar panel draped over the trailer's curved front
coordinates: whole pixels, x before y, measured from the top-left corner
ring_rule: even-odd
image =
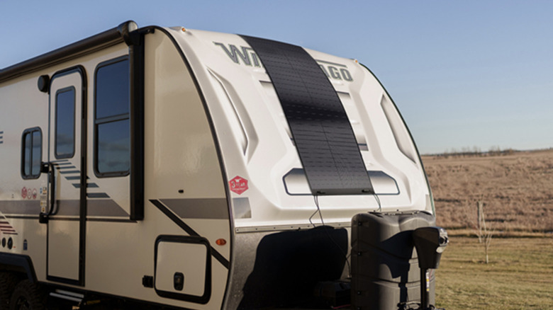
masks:
[[[350,120],[315,59],[303,48],[242,35],[269,74],[313,195],[372,194]]]

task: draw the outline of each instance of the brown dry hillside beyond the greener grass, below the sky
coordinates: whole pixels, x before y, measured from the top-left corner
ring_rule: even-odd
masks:
[[[553,150],[423,156],[437,225],[474,229],[477,203],[497,232],[553,232]]]

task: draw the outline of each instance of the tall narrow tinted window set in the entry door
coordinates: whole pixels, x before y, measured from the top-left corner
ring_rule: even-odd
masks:
[[[75,88],[56,94],[55,154],[58,159],[71,158],[75,151]]]

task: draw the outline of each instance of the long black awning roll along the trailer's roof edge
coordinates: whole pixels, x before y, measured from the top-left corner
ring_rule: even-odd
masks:
[[[116,28],[1,69],[0,83],[125,42],[125,40],[128,40],[129,33],[137,28],[138,25],[134,21],[125,21]]]

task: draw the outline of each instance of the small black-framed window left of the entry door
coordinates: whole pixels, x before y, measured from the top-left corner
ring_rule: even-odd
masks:
[[[43,132],[38,127],[23,131],[21,144],[21,176],[38,178],[43,160]]]

